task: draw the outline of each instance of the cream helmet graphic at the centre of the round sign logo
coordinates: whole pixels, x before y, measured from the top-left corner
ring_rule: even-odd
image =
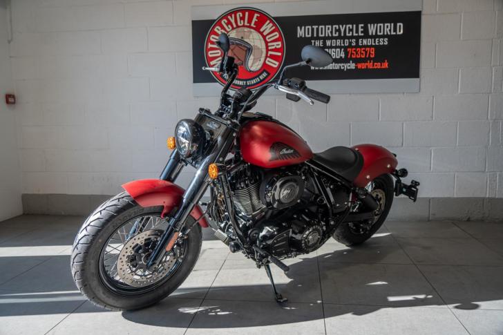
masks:
[[[262,68],[265,61],[265,41],[255,30],[240,27],[229,32],[229,56],[235,57],[249,72]]]

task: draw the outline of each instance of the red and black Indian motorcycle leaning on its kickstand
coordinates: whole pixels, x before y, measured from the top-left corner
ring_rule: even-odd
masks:
[[[395,195],[416,200],[418,182],[401,182],[390,151],[374,144],[334,146],[312,153],[292,129],[250,110],[268,88],[327,104],[330,96],[286,78],[294,66],[321,68],[332,57],[305,46],[303,61],[285,66],[279,79],[254,92],[229,88],[240,64],[231,57],[229,38],[218,46],[223,57],[215,71],[227,78],[215,113],[201,108],[182,119],[170,137],[173,149],[158,180],[136,180],[86,219],[75,238],[71,270],[77,287],[96,305],[138,309],[171,294],[189,276],[201,249],[201,227],[264,267],[278,302],[269,265],[315,251],[330,237],[358,245],[381,227]],[[174,184],[184,166],[197,169],[186,190]],[[392,179],[395,178],[395,181]],[[209,188],[209,202],[199,202]]]

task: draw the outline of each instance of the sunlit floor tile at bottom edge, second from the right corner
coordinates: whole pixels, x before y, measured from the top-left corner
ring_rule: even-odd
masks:
[[[468,334],[448,309],[325,304],[327,334]]]

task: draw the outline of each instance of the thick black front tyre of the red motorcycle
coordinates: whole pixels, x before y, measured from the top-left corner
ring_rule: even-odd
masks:
[[[89,216],[75,237],[70,265],[75,285],[88,300],[111,310],[148,307],[169,296],[189,276],[201,249],[201,227],[195,224],[184,240],[184,254],[173,273],[152,283],[146,289],[113,289],[102,274],[103,250],[113,234],[127,222],[145,216],[159,216],[162,206],[140,207],[131,195],[120,193],[104,202]],[[187,226],[194,220],[189,216]],[[114,244],[117,247],[117,244]],[[177,260],[178,262],[178,260]],[[124,285],[127,287],[127,285]]]

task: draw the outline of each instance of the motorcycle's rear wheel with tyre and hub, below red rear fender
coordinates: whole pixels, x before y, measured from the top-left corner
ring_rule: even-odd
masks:
[[[337,227],[333,237],[344,245],[359,245],[368,240],[382,226],[393,203],[395,186],[388,174],[375,178],[369,186],[370,194],[379,203],[372,220],[343,222]],[[359,211],[366,211],[362,208]]]

